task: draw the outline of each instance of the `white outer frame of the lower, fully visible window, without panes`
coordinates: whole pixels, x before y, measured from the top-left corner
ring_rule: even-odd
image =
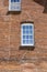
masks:
[[[33,43],[32,44],[23,44],[23,31],[22,31],[22,27],[23,25],[32,25],[33,27]],[[33,23],[23,23],[23,24],[21,24],[21,45],[22,47],[34,47],[35,44],[34,44],[34,24]]]

